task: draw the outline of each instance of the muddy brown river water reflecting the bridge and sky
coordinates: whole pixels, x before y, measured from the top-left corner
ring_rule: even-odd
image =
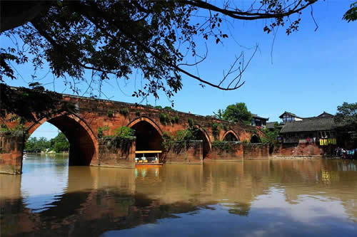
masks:
[[[0,236],[357,236],[357,162],[116,169],[29,155],[0,174]]]

